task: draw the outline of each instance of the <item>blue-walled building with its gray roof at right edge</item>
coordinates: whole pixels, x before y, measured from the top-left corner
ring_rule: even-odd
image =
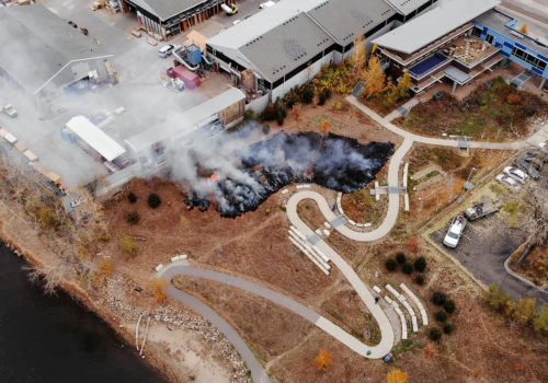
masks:
[[[516,30],[517,19],[491,10],[473,21],[473,35],[501,48],[501,55],[543,78],[548,79],[548,46]]]

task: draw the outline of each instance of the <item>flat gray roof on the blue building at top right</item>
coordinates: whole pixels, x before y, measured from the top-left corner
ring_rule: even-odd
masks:
[[[507,13],[507,14],[505,14],[505,13]],[[509,24],[512,21],[517,20],[517,19],[518,19],[518,16],[514,15],[512,12],[505,11],[503,13],[502,11],[494,9],[490,12],[482,14],[481,16],[476,19],[476,21],[478,21],[479,23],[490,27],[491,30],[496,31],[500,34],[513,39],[514,42],[520,43],[521,45],[524,45],[527,48],[530,48],[530,49],[535,50],[536,53],[548,57],[548,46],[544,45],[543,43],[539,44],[533,37],[517,33],[512,27],[506,26],[506,24]],[[530,22],[532,21],[529,19],[527,19],[527,24],[529,24]],[[521,23],[517,23],[517,24],[521,25]],[[543,25],[543,26],[544,26],[544,28],[546,28],[548,31],[548,26],[546,26],[546,25]],[[514,31],[514,33],[512,33],[512,31]],[[522,37],[520,37],[520,36],[522,36]]]

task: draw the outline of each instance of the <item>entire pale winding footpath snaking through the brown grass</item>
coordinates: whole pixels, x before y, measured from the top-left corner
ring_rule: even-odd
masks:
[[[362,111],[364,114],[368,115],[373,120],[380,124],[383,127],[388,130],[399,135],[403,138],[402,144],[398,148],[398,150],[393,153],[389,166],[388,166],[388,186],[389,187],[399,187],[399,166],[402,163],[402,160],[407,152],[413,146],[413,142],[421,142],[426,144],[434,146],[444,146],[444,147],[458,147],[458,141],[454,139],[437,139],[431,137],[419,136],[407,130],[403,130],[396,125],[391,124],[386,118],[381,117],[364,104],[359,103],[354,96],[346,97],[346,101]],[[548,137],[548,131],[546,129],[540,129],[538,132],[529,137],[527,140],[516,141],[516,142],[469,142],[470,148],[472,149],[495,149],[495,150],[518,150],[525,148],[527,144],[536,144]],[[287,201],[287,217],[289,221],[307,237],[315,236],[315,232],[299,218],[297,213],[297,206],[304,199],[312,199],[318,205],[320,211],[324,216],[328,222],[333,222],[339,219],[339,216],[335,216],[333,211],[331,211],[330,206],[328,205],[326,198],[312,190],[304,190],[297,192],[294,194],[289,200]],[[400,195],[399,194],[389,194],[388,195],[388,211],[385,217],[383,223],[373,231],[369,232],[359,232],[354,231],[351,228],[339,224],[333,228],[338,230],[344,236],[358,241],[358,242],[367,242],[367,241],[376,241],[385,235],[387,235],[390,230],[396,224],[399,212],[399,204],[400,204]],[[354,290],[357,292],[364,304],[367,306],[369,312],[373,314],[375,320],[378,323],[380,329],[381,340],[377,346],[367,346],[361,343],[355,337],[351,336],[342,328],[327,320],[326,317],[319,315],[315,311],[308,309],[307,306],[298,303],[297,301],[285,297],[281,293],[277,293],[271,289],[262,287],[260,285],[253,283],[251,281],[237,278],[227,274],[206,270],[196,268],[191,266],[191,264],[186,260],[178,262],[175,264],[168,265],[162,270],[159,271],[159,276],[167,278],[171,281],[173,277],[176,275],[187,275],[194,276],[197,278],[204,278],[214,280],[217,282],[226,283],[260,297],[263,297],[281,306],[284,306],[292,312],[302,316],[307,321],[313,323],[316,326],[330,334],[345,346],[354,350],[366,358],[383,358],[387,355],[395,343],[395,333],[393,328],[383,309],[375,304],[375,299],[369,290],[369,288],[359,279],[354,269],[336,253],[334,252],[323,240],[319,240],[316,243],[318,246],[330,259],[331,262],[341,270],[344,277],[352,285]],[[208,320],[214,326],[216,326],[227,339],[235,346],[236,350],[240,353],[242,359],[246,361],[248,368],[251,371],[251,375],[254,382],[267,383],[270,382],[270,378],[264,371],[261,363],[256,360],[255,356],[248,347],[246,341],[241,338],[241,336],[236,332],[236,329],[228,324],[222,317],[220,317],[215,311],[213,311],[209,306],[202,303],[196,298],[175,289],[171,283],[168,289],[168,295],[187,304],[190,307],[198,312],[206,320]]]

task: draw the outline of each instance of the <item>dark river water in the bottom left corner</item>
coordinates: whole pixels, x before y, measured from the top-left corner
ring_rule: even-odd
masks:
[[[164,383],[67,294],[45,295],[0,243],[0,381]]]

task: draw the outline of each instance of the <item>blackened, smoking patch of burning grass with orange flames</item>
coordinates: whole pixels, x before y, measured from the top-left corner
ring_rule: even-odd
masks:
[[[361,144],[333,134],[281,132],[233,150],[238,163],[231,169],[221,163],[210,165],[215,169],[205,183],[197,188],[189,185],[186,205],[205,211],[214,200],[221,217],[236,218],[254,211],[270,195],[293,182],[352,193],[374,179],[392,153],[391,142]]]

